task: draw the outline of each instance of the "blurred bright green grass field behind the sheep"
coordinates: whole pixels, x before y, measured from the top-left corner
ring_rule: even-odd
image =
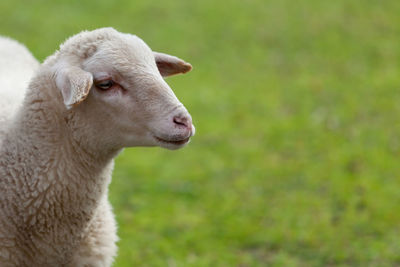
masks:
[[[193,64],[197,129],[118,157],[114,266],[400,266],[400,1],[0,2],[40,60],[103,26]]]

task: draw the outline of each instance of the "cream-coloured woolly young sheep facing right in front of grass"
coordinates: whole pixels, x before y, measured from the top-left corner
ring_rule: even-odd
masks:
[[[110,266],[113,159],[125,147],[189,142],[192,118],[164,78],[192,66],[113,28],[70,37],[40,66],[14,41],[0,48],[7,42],[1,53],[18,74],[0,76],[1,95],[34,75],[0,124],[0,265]]]

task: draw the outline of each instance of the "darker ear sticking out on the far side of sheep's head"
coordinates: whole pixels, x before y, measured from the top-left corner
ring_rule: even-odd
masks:
[[[175,74],[186,73],[192,70],[192,65],[180,58],[163,53],[153,52],[161,76],[167,77]]]

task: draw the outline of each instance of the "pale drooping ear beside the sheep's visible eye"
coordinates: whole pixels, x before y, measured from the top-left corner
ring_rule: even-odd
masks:
[[[67,109],[85,100],[92,84],[92,74],[78,67],[63,67],[56,73],[56,85],[61,91]]]

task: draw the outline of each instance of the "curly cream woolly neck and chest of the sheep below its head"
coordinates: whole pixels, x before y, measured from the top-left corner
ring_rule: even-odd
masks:
[[[113,157],[61,146],[61,118],[49,112],[54,96],[41,91],[28,92],[0,149],[0,265],[110,266],[118,240],[107,199]],[[81,162],[65,160],[74,158]]]

